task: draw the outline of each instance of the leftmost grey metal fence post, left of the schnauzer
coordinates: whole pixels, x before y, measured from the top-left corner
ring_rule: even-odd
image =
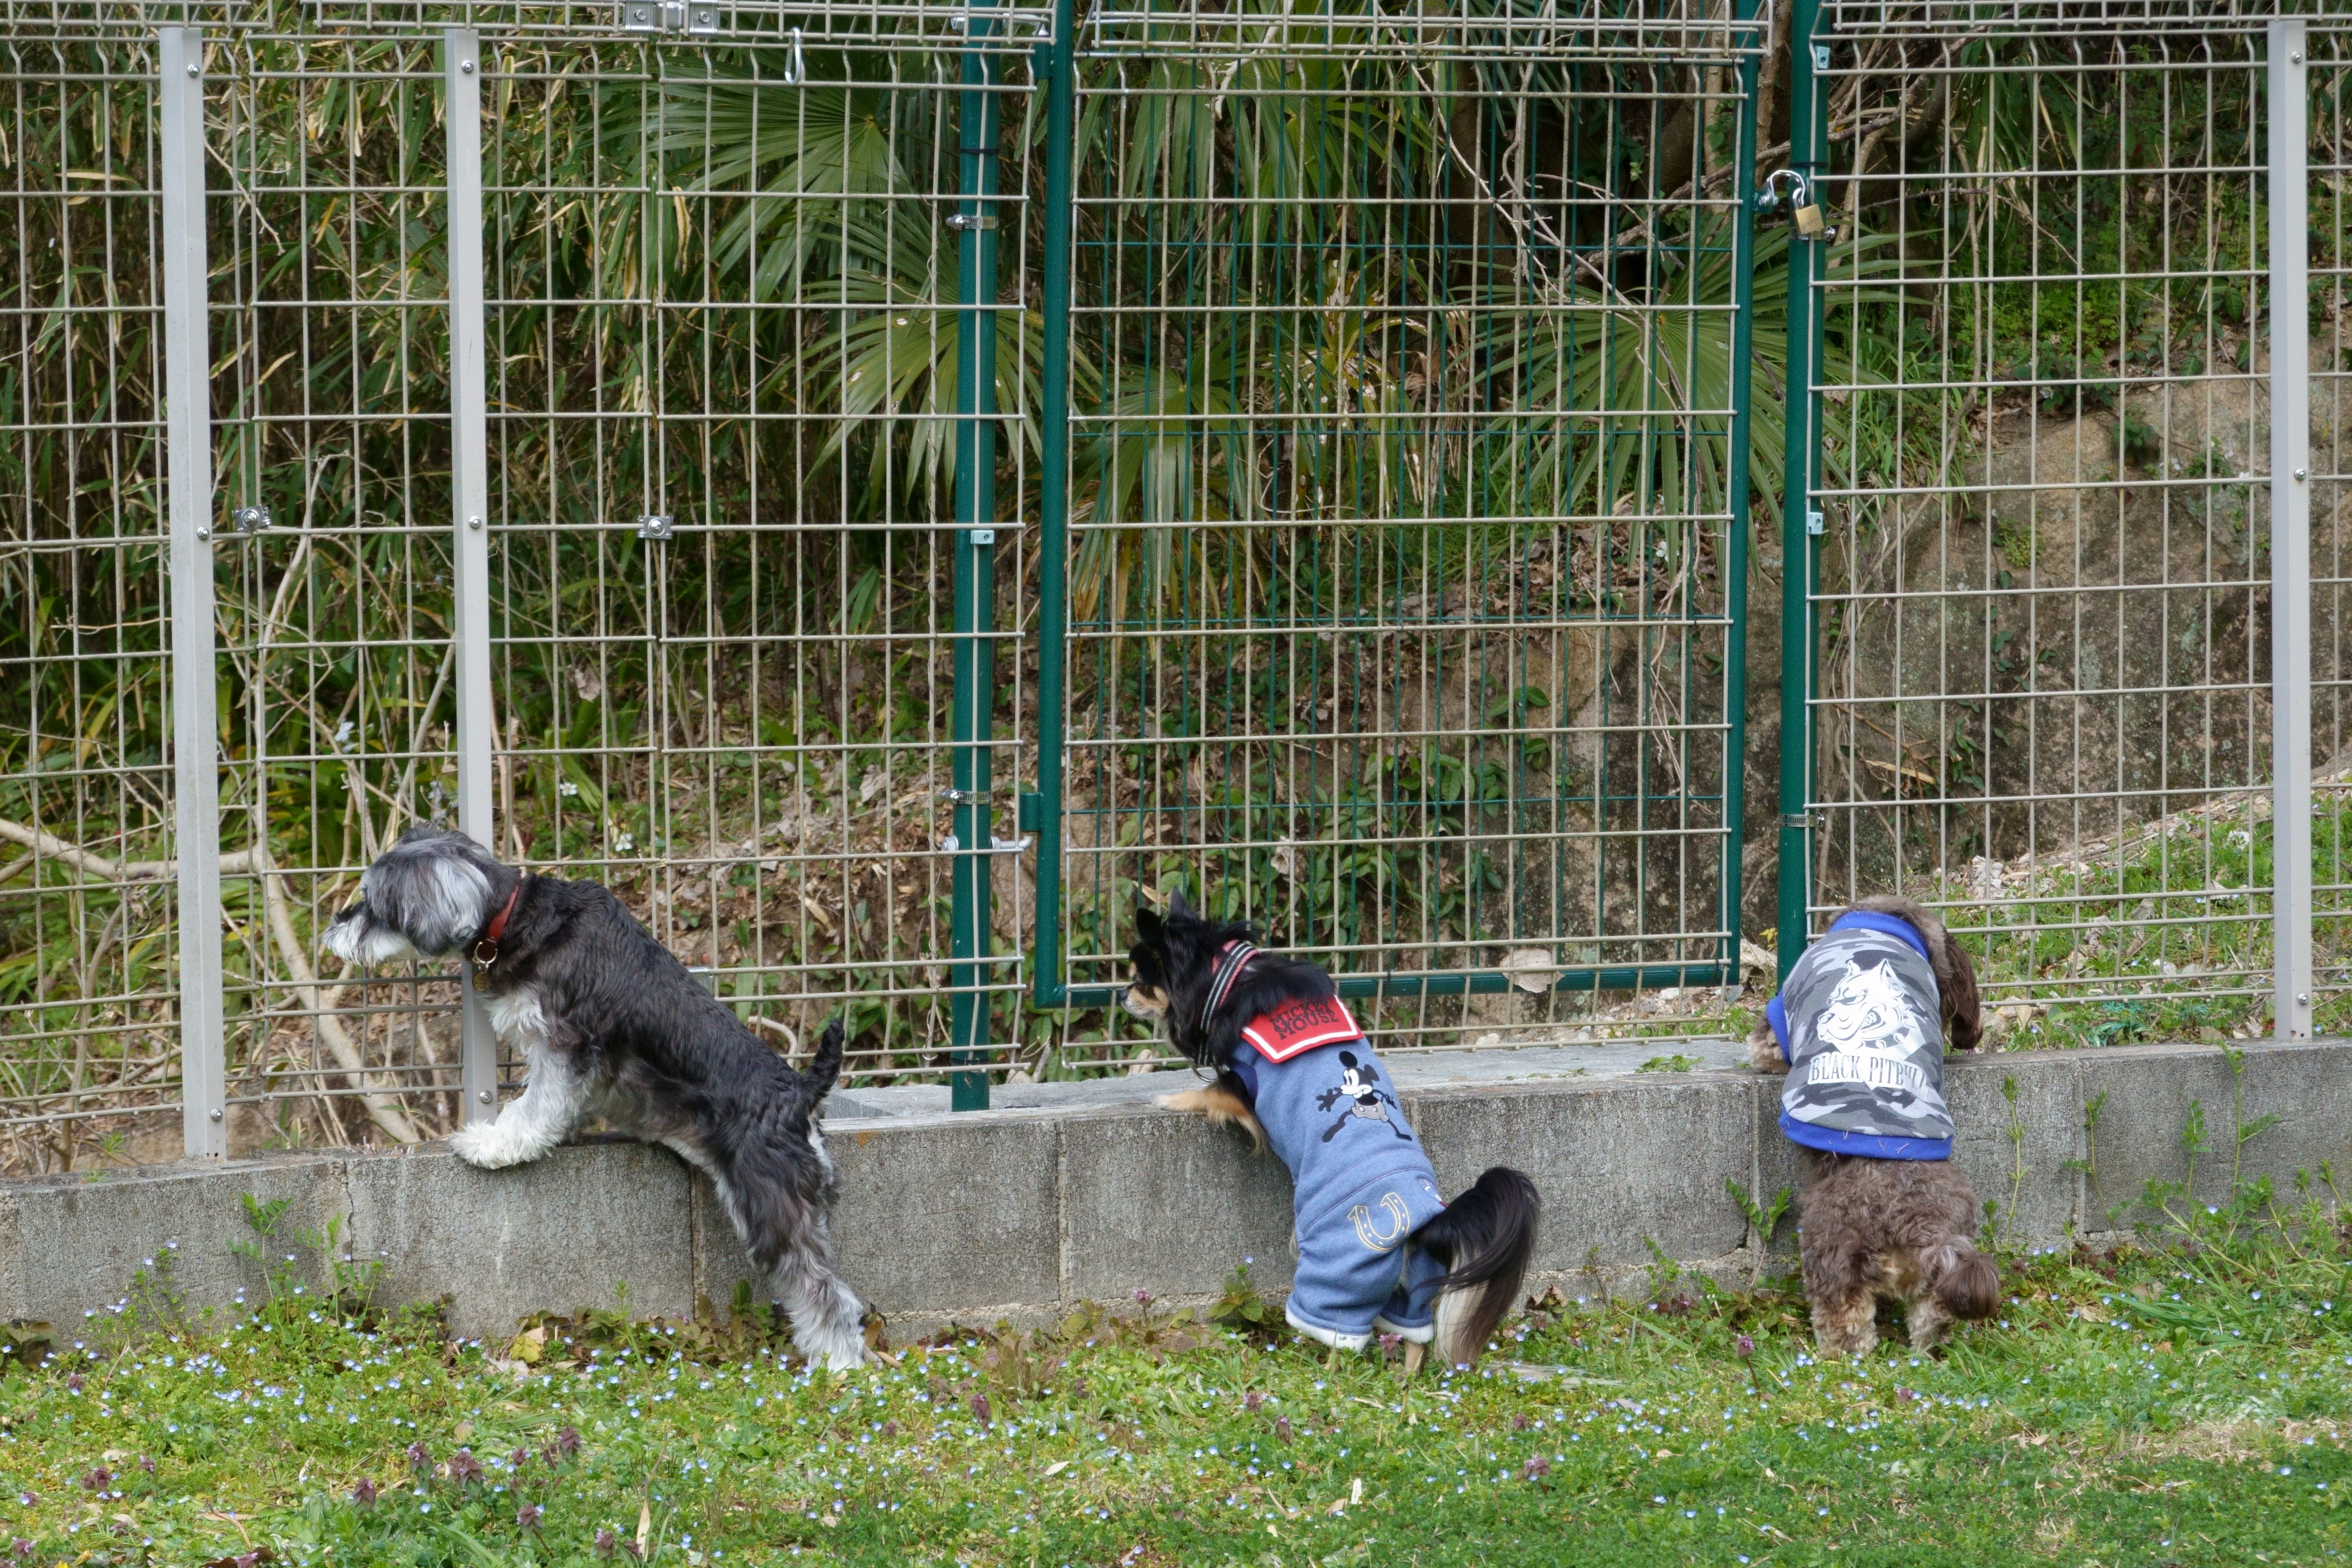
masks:
[[[221,743],[212,644],[212,331],[205,254],[205,35],[160,28],[162,374],[169,473],[172,766],[179,839],[179,1072],[188,1159],[228,1154],[221,994]]]

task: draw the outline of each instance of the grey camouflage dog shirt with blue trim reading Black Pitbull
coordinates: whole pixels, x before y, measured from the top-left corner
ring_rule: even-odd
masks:
[[[1804,950],[1764,1020],[1790,1063],[1780,1131],[1809,1150],[1950,1159],[1943,1001],[1910,922],[1856,910]]]

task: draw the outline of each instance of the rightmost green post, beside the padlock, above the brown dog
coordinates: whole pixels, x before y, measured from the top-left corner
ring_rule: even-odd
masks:
[[[1788,125],[1790,167],[1806,179],[1806,200],[1823,200],[1828,113],[1813,82],[1813,33],[1820,0],[1795,0],[1790,14]],[[1820,480],[1820,397],[1813,367],[1820,310],[1813,301],[1813,240],[1788,240],[1788,447],[1780,480],[1780,978],[1804,957],[1811,933],[1813,835],[1813,487]]]

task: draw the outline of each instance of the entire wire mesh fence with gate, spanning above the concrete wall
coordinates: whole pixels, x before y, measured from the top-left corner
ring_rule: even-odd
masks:
[[[480,1114],[517,1063],[454,978],[318,952],[412,823],[609,884],[781,1051],[847,1011],[851,1081],[1167,1060],[1108,1004],[1176,891],[1388,1048],[1722,1034],[1776,842],[1783,952],[1907,891],[2023,1039],[2263,1027],[2277,61],[2227,7],[1997,9],[7,5],[0,1164],[195,1145],[209,856],[226,1147]],[[193,860],[158,24],[212,244]]]

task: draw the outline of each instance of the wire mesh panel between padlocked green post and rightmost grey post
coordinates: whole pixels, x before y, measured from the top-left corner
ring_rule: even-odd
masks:
[[[2263,26],[1832,9],[1811,914],[1945,905],[2030,1037],[2253,1032],[2274,987]],[[2340,679],[2326,642],[2310,656]]]

